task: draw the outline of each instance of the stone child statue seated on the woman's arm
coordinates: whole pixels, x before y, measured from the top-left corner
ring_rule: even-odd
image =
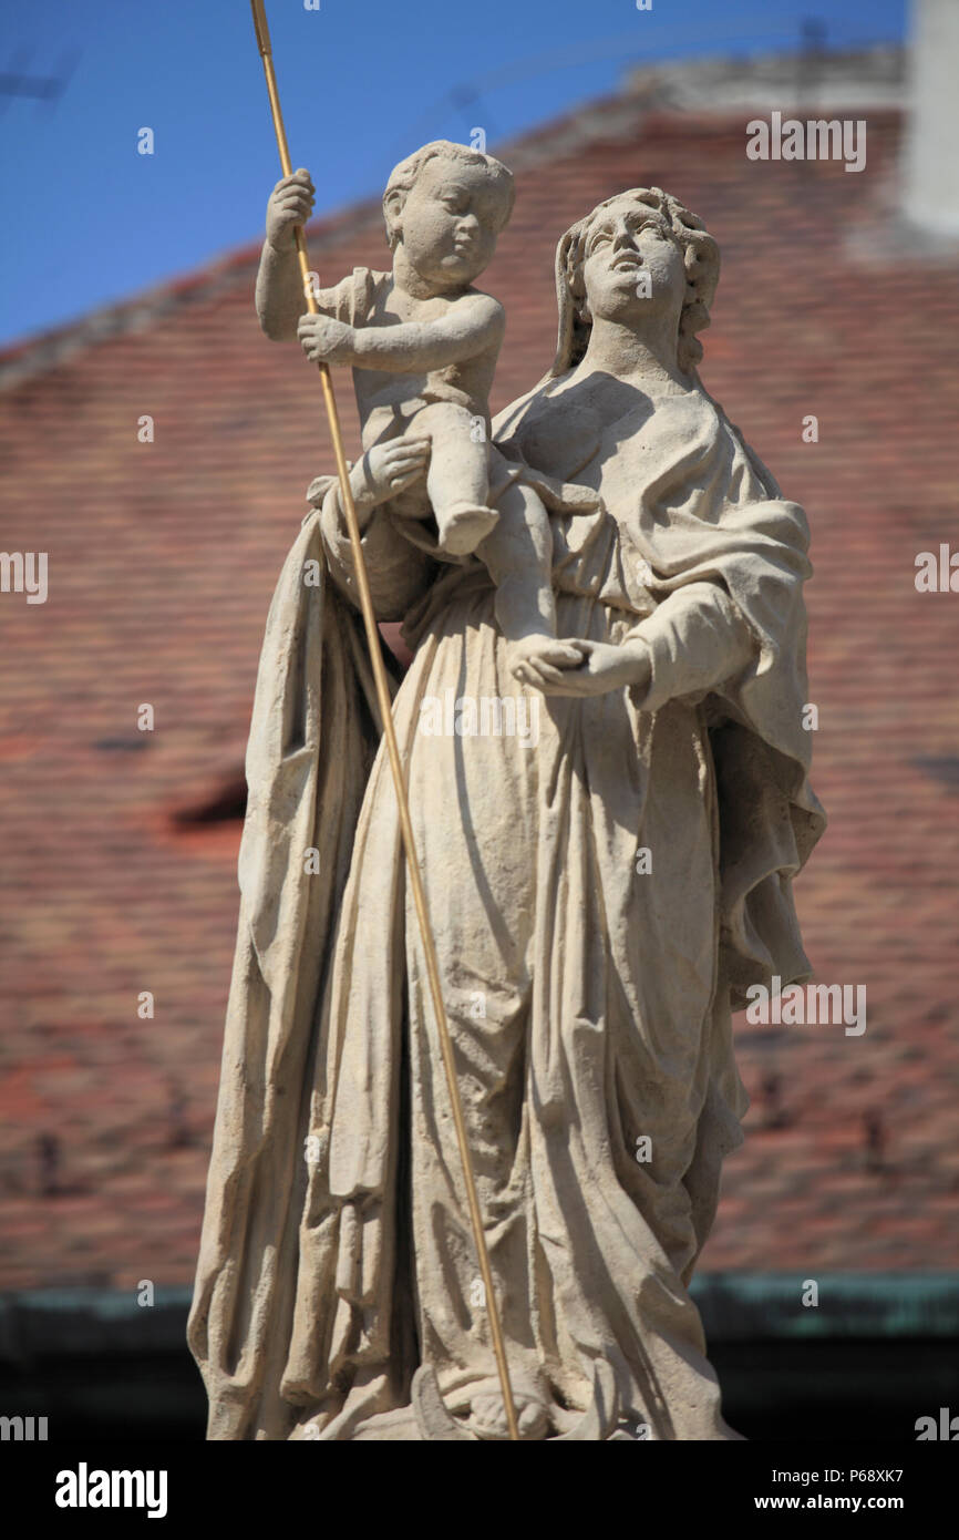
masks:
[[[292,228],[309,219],[312,197],[305,169],[283,177],[271,194],[257,311],[269,337],[296,334],[311,360],[353,367],[365,450],[351,474],[357,514],[374,473],[389,470],[400,497],[425,471],[426,497],[416,497],[413,508],[406,499],[403,513],[433,513],[439,553],[453,561],[476,553],[488,567],[513,675],[536,685],[556,668],[579,667],[579,645],[556,639],[553,541],[542,497],[566,513],[593,511],[600,499],[585,487],[551,496],[548,479],[536,488],[531,479],[514,485],[490,444],[488,396],[505,313],[474,282],[513,213],[513,174],[479,149],[448,140],[425,145],[400,162],[383,194],[393,271],[356,268],[317,293],[319,314],[303,314]]]

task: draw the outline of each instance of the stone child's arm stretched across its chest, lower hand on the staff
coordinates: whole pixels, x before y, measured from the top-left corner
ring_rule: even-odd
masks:
[[[468,294],[437,320],[396,326],[348,326],[325,316],[300,316],[297,333],[308,359],[349,363],[388,374],[420,374],[460,363],[503,339],[506,313],[490,294]]]

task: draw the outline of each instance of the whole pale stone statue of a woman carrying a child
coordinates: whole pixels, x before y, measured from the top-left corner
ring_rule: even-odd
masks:
[[[463,146],[403,162],[393,274],[305,317],[312,186],[285,177],[257,310],[356,371],[351,484],[414,653],[393,713],[520,1434],[736,1438],[688,1284],[742,1143],[731,1010],[810,973],[807,525],[699,379],[719,253],[659,188],[562,237],[556,362],[466,448],[506,179]],[[211,1438],[502,1440],[336,479],[309,504],[257,679],[189,1344]]]

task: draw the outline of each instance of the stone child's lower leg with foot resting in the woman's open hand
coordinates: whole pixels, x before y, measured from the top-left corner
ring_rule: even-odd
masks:
[[[528,684],[523,670],[536,659],[554,668],[576,668],[582,653],[556,641],[553,598],[553,531],[550,514],[531,487],[513,482],[499,500],[499,524],[479,556],[496,584],[496,619],[508,642],[508,664]]]

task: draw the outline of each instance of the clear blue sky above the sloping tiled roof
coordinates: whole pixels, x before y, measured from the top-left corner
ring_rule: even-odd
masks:
[[[656,59],[897,40],[907,0],[266,0],[294,166],[317,211],[377,192],[428,139],[490,145]],[[259,237],[279,177],[248,0],[0,0],[0,343]],[[137,154],[137,131],[155,136]]]

